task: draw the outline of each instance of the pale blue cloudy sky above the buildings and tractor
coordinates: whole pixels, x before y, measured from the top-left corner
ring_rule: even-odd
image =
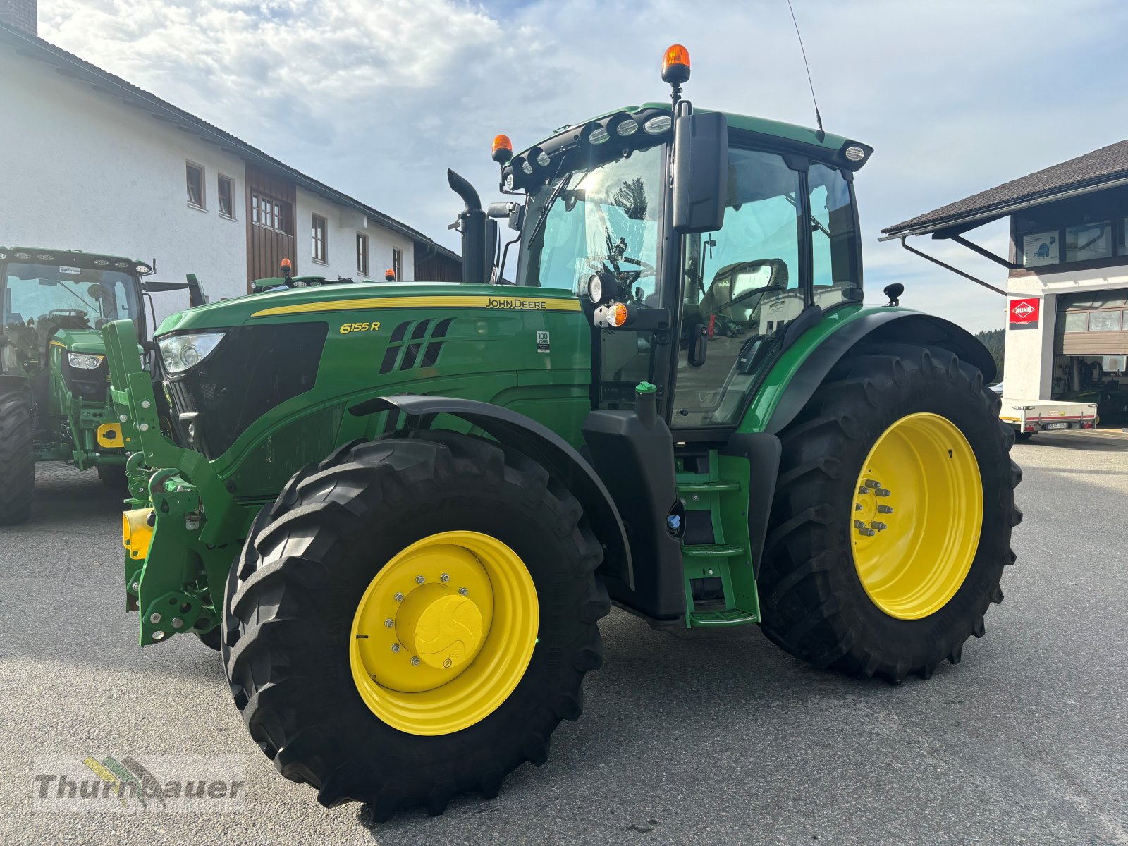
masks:
[[[971,329],[1003,298],[878,230],[1128,136],[1122,0],[793,0],[827,130],[876,148],[856,183],[869,298]],[[662,100],[811,125],[785,0],[39,0],[39,34],[457,247],[447,167],[493,199],[490,142]],[[1005,250],[1005,231],[984,227]],[[999,284],[960,247],[918,246]]]

